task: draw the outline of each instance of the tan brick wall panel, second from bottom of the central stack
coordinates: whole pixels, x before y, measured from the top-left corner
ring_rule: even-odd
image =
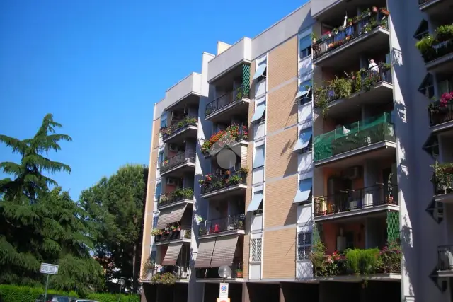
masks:
[[[297,175],[266,184],[264,195],[264,227],[287,226],[297,223]]]

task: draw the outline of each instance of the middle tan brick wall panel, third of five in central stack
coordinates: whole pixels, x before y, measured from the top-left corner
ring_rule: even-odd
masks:
[[[265,146],[266,180],[297,173],[297,153],[293,151],[296,141],[297,126],[267,137]]]

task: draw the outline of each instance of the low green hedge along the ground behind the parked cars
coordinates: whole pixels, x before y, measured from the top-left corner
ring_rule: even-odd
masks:
[[[44,294],[45,289],[40,287],[16,286],[0,284],[0,302],[35,302],[39,295]],[[53,289],[47,290],[47,294],[61,294],[64,296],[79,297],[74,291],[56,291]],[[117,294],[94,293],[84,297],[89,300],[99,302],[117,302]],[[121,295],[120,302],[139,302],[140,298],[137,295]]]

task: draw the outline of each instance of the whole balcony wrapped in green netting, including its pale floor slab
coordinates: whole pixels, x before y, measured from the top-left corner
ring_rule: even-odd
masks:
[[[396,152],[395,141],[391,115],[384,113],[315,137],[314,162],[316,166],[352,166],[369,157],[388,157]]]

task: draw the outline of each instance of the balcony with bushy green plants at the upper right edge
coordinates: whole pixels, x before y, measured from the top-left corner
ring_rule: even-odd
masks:
[[[436,29],[435,36],[425,35],[416,43],[425,60],[426,69],[432,72],[448,72],[453,69],[453,24]]]

